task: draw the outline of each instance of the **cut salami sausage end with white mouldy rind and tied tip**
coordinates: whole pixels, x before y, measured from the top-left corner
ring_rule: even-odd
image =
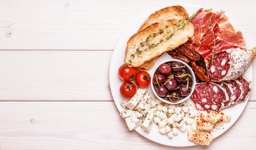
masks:
[[[256,55],[256,48],[252,51],[241,49],[228,49],[217,52],[205,59],[208,76],[211,81],[235,80],[241,76],[248,65],[253,62]]]

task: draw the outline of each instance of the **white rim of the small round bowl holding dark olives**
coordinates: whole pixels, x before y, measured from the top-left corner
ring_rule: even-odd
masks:
[[[189,95],[187,95],[186,97],[183,97],[182,99],[178,100],[177,102],[171,102],[171,101],[169,101],[169,100],[165,100],[164,98],[158,96],[158,95],[156,94],[156,90],[155,90],[155,88],[154,88],[154,83],[153,83],[154,74],[155,74],[156,70],[158,69],[158,67],[159,67],[162,63],[169,63],[169,62],[172,62],[172,61],[180,62],[180,63],[182,63],[183,65],[185,65],[186,68],[187,68],[187,70],[188,70],[188,72],[190,73],[190,75],[191,75],[191,77],[192,77],[192,81],[193,81],[193,82],[192,82],[191,91],[190,91]],[[184,61],[180,61],[180,60],[178,60],[178,59],[168,59],[168,60],[165,60],[165,61],[162,61],[162,62],[156,64],[155,67],[154,67],[154,70],[153,70],[153,72],[152,72],[152,74],[151,74],[151,76],[152,76],[152,78],[151,78],[150,84],[151,84],[151,88],[152,88],[152,91],[153,91],[154,95],[156,95],[156,97],[158,97],[159,100],[161,100],[162,102],[165,102],[165,103],[167,103],[167,104],[180,104],[180,103],[182,103],[182,102],[185,102],[186,100],[188,100],[188,98],[192,95],[193,91],[195,90],[196,80],[195,80],[195,74],[194,74],[192,68],[191,68],[188,64],[186,64]]]

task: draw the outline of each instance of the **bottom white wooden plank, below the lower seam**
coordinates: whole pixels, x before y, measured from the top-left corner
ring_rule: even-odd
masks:
[[[174,148],[129,132],[113,102],[1,102],[0,113],[5,150]],[[207,148],[256,149],[255,114],[256,102],[249,102],[236,124]]]

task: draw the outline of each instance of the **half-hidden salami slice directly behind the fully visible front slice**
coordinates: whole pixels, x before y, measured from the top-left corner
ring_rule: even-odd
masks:
[[[226,80],[225,83],[229,85],[233,90],[233,98],[230,100],[230,104],[234,105],[238,101],[241,95],[240,85],[235,80]]]

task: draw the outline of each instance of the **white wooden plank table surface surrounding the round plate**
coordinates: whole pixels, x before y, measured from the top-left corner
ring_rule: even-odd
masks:
[[[178,149],[128,132],[109,89],[120,35],[173,3],[225,10],[256,45],[256,1],[0,0],[0,149]],[[235,125],[210,147],[187,149],[256,149],[255,115],[253,89]]]

